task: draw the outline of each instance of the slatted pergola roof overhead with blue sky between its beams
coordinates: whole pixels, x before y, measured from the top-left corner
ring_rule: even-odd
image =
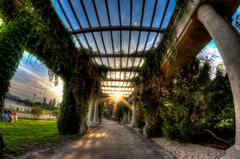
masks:
[[[157,46],[167,28],[175,0],[53,0],[76,47],[108,68],[102,91],[128,96],[146,50]]]

